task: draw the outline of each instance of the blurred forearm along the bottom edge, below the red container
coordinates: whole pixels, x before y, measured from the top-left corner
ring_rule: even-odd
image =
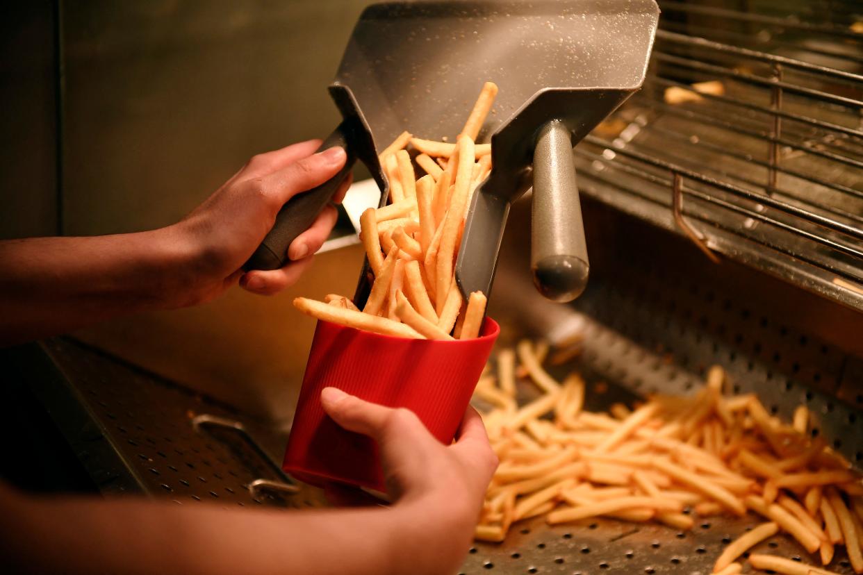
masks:
[[[398,505],[224,510],[81,499],[31,501],[18,512],[7,509],[0,521],[16,529],[14,539],[3,538],[16,546],[6,556],[14,553],[14,560],[26,561],[22,566],[34,572],[453,572],[467,541],[457,541],[454,555],[446,544],[437,544],[436,536],[451,539],[451,526],[437,517],[416,516],[417,511]]]

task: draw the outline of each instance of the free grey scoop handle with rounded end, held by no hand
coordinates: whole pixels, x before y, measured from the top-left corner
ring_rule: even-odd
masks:
[[[580,296],[588,283],[588,250],[572,134],[563,122],[549,122],[539,130],[531,229],[531,270],[539,293],[556,302]]]

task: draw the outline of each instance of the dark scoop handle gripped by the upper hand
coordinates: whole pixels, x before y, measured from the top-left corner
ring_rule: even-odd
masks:
[[[312,225],[354,167],[356,155],[348,146],[346,130],[346,124],[342,122],[318,148],[318,152],[323,152],[331,147],[343,147],[348,153],[344,167],[317,188],[297,194],[282,206],[279,214],[275,216],[273,229],[269,231],[264,241],[261,241],[261,245],[245,263],[243,270],[275,270],[285,265],[287,248],[291,242]]]

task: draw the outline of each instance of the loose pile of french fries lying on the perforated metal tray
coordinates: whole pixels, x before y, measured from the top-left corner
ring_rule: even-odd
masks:
[[[551,354],[559,364],[577,341]],[[503,541],[513,522],[544,515],[554,525],[596,516],[659,522],[677,529],[694,516],[747,511],[765,522],[732,542],[714,572],[740,572],[743,553],[778,532],[789,534],[822,565],[836,546],[863,572],[863,480],[841,454],[809,432],[800,406],[791,425],[772,416],[753,394],[726,396],[726,375],[715,366],[694,397],[650,397],[635,409],[583,409],[585,383],[577,373],[558,382],[545,370],[542,342],[501,350],[476,387],[494,406],[482,414],[501,465],[488,487],[476,538]],[[542,394],[516,402],[526,376]],[[685,512],[684,512],[685,510]],[[752,555],[757,569],[809,575],[820,566]]]

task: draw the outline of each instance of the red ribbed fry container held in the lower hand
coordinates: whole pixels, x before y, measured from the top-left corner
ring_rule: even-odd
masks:
[[[486,318],[474,340],[408,340],[318,321],[282,468],[306,483],[331,481],[386,491],[375,441],[340,428],[320,393],[337,387],[419,416],[450,443],[501,328]]]

